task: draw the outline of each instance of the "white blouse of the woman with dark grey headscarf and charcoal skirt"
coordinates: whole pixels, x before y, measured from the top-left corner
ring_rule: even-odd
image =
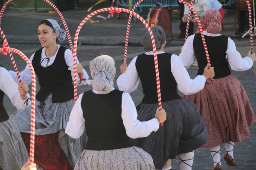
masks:
[[[157,51],[157,54],[165,53],[164,51]],[[147,55],[153,55],[153,51],[145,53]],[[135,66],[137,57],[131,61],[128,65],[125,73],[121,74],[116,83],[120,91],[131,93],[137,90],[140,83],[140,77],[137,73]],[[171,57],[171,72],[177,82],[178,89],[185,95],[195,94],[204,88],[206,78],[204,76],[197,76],[195,79],[190,79],[189,74],[184,68],[181,59],[172,54]],[[168,70],[166,70],[168,71]],[[161,85],[161,84],[160,84]]]

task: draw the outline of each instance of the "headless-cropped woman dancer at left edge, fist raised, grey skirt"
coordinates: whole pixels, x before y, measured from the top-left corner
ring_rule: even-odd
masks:
[[[0,170],[20,170],[29,159],[20,131],[9,119],[3,105],[3,96],[6,94],[18,110],[30,109],[28,92],[26,83],[20,82],[17,85],[9,72],[0,66]]]

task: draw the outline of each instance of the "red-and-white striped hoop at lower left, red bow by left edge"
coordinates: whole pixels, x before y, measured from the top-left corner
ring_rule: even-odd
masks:
[[[34,150],[35,150],[35,71],[34,68],[31,64],[31,62],[29,61],[29,59],[19,50],[15,49],[15,48],[9,48],[8,47],[8,43],[7,41],[3,42],[3,48],[0,48],[0,52],[3,52],[3,54],[7,54],[6,51],[12,51],[18,55],[20,55],[20,57],[22,57],[26,63],[29,65],[29,69],[31,72],[31,78],[32,78],[32,100],[31,100],[31,125],[30,125],[30,151],[29,151],[29,162],[30,164],[32,164],[34,162]]]

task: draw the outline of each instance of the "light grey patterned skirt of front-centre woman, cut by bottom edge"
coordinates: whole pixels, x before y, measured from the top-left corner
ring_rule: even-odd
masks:
[[[155,170],[151,156],[139,147],[84,150],[75,170]]]

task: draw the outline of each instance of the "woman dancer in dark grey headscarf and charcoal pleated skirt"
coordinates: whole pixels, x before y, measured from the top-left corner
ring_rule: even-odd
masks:
[[[208,69],[207,65],[203,76],[190,79],[180,58],[164,52],[166,36],[163,28],[154,26],[151,30],[157,47],[162,106],[166,110],[167,120],[157,132],[135,139],[135,144],[152,156],[158,170],[171,169],[169,159],[175,159],[178,155],[180,169],[191,170],[194,158],[191,151],[207,142],[208,134],[195,104],[181,99],[177,94],[177,86],[185,94],[194,94],[204,88],[207,79],[214,77],[214,71],[213,68]],[[154,55],[149,33],[144,36],[142,44],[149,52],[135,57],[128,68],[126,64],[120,66],[121,75],[117,79],[117,85],[119,90],[131,93],[141,81],[144,97],[137,106],[138,119],[147,121],[154,117],[154,111],[158,107]]]

